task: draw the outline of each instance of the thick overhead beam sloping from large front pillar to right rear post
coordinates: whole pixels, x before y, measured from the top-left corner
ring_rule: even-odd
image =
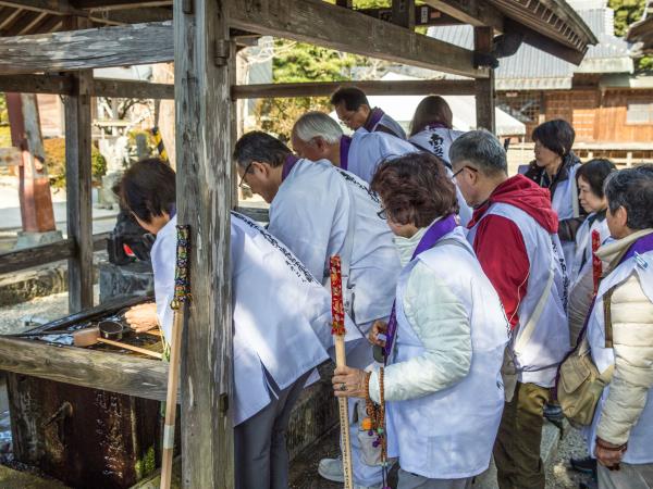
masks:
[[[230,24],[338,51],[484,78],[473,53],[447,42],[320,0],[234,0]]]

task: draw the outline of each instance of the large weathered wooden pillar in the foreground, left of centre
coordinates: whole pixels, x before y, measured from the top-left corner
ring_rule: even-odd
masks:
[[[232,102],[235,47],[226,0],[174,0],[178,221],[190,225],[190,288],[182,351],[182,480],[234,487]]]

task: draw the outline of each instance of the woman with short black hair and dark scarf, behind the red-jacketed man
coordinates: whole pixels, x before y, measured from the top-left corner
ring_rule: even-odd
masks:
[[[520,174],[551,191],[567,268],[576,253],[576,233],[587,215],[578,199],[576,172],[580,160],[571,150],[575,138],[576,131],[567,121],[558,118],[540,124],[531,135],[535,159],[518,168]]]

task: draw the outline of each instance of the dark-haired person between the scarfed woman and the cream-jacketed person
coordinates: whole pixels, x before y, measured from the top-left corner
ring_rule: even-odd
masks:
[[[607,176],[616,171],[609,160],[591,160],[576,172],[580,204],[588,217],[576,234],[576,254],[568,264],[569,271],[569,340],[576,346],[578,335],[588,314],[590,303],[596,291],[603,264],[594,258],[593,251],[609,239],[609,229],[605,218],[607,199],[603,184]]]

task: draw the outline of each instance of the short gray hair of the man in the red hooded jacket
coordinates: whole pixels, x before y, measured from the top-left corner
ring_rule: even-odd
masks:
[[[449,148],[449,161],[473,163],[486,175],[508,172],[506,150],[496,136],[485,129],[470,130],[456,139]]]

